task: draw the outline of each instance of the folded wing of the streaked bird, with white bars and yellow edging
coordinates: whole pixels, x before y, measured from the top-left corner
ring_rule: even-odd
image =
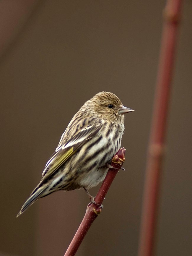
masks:
[[[38,186],[32,191],[32,194],[48,179],[53,176],[56,171],[77,151],[82,145],[94,137],[99,130],[101,129],[100,125],[89,125],[82,128],[77,132],[70,140],[65,144],[62,144],[57,148],[49,161],[47,162],[45,169],[43,171],[43,178],[41,179]]]

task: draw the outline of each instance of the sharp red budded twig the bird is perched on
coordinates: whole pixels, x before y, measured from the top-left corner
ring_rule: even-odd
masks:
[[[109,168],[108,173],[95,197],[95,202],[98,205],[102,204],[102,201],[104,200],[105,195],[108,192],[108,189],[111,183],[113,182],[113,179],[115,178],[115,175],[118,173],[119,169],[123,165],[123,162],[125,161],[125,151],[126,150],[124,148],[123,149],[121,148],[113,157],[111,162],[111,167],[115,167],[115,169]],[[64,256],[75,255],[82,240],[87,234],[87,231],[89,230],[91,224],[97,218],[97,216],[101,213],[101,207],[98,205],[94,203],[90,203],[87,206],[87,210],[82,220],[82,223],[80,224],[79,229],[77,230]]]

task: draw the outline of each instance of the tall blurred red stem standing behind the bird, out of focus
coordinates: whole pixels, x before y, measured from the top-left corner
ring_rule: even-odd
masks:
[[[139,256],[151,256],[154,252],[158,191],[181,3],[182,0],[167,0],[163,12],[164,26],[147,156]]]

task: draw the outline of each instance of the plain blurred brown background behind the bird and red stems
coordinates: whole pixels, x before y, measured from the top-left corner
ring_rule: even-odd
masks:
[[[165,1],[1,1],[0,255],[64,255],[89,202],[56,192],[16,218],[82,104],[111,91],[126,115],[126,171],[77,256],[137,255],[146,148]],[[167,133],[157,256],[192,255],[192,1],[186,0]],[[96,194],[98,187],[91,189]]]

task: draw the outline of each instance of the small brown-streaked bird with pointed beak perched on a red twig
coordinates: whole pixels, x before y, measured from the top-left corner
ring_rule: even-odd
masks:
[[[59,144],[45,165],[42,179],[22,206],[17,217],[39,198],[58,190],[88,189],[105,178],[112,157],[121,146],[123,106],[113,93],[100,92],[86,101],[73,116]]]

